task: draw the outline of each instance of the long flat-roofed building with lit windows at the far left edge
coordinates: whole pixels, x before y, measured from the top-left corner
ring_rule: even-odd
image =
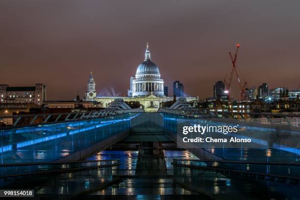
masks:
[[[0,85],[0,103],[35,103],[46,101],[46,85],[37,83],[32,87],[9,87]]]

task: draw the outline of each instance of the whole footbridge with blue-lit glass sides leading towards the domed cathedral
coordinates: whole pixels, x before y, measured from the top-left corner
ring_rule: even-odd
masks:
[[[151,113],[116,100],[101,111],[0,117],[14,121],[0,127],[0,188],[57,200],[300,198],[299,128],[185,106]],[[256,146],[184,146],[182,123],[239,125],[234,137]]]

